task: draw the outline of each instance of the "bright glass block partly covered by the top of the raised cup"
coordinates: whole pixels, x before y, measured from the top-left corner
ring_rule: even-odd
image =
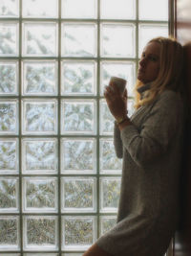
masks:
[[[103,95],[105,85],[111,77],[118,77],[127,81],[128,96],[132,97],[136,84],[136,63],[131,61],[102,61],[100,70],[100,92]]]

